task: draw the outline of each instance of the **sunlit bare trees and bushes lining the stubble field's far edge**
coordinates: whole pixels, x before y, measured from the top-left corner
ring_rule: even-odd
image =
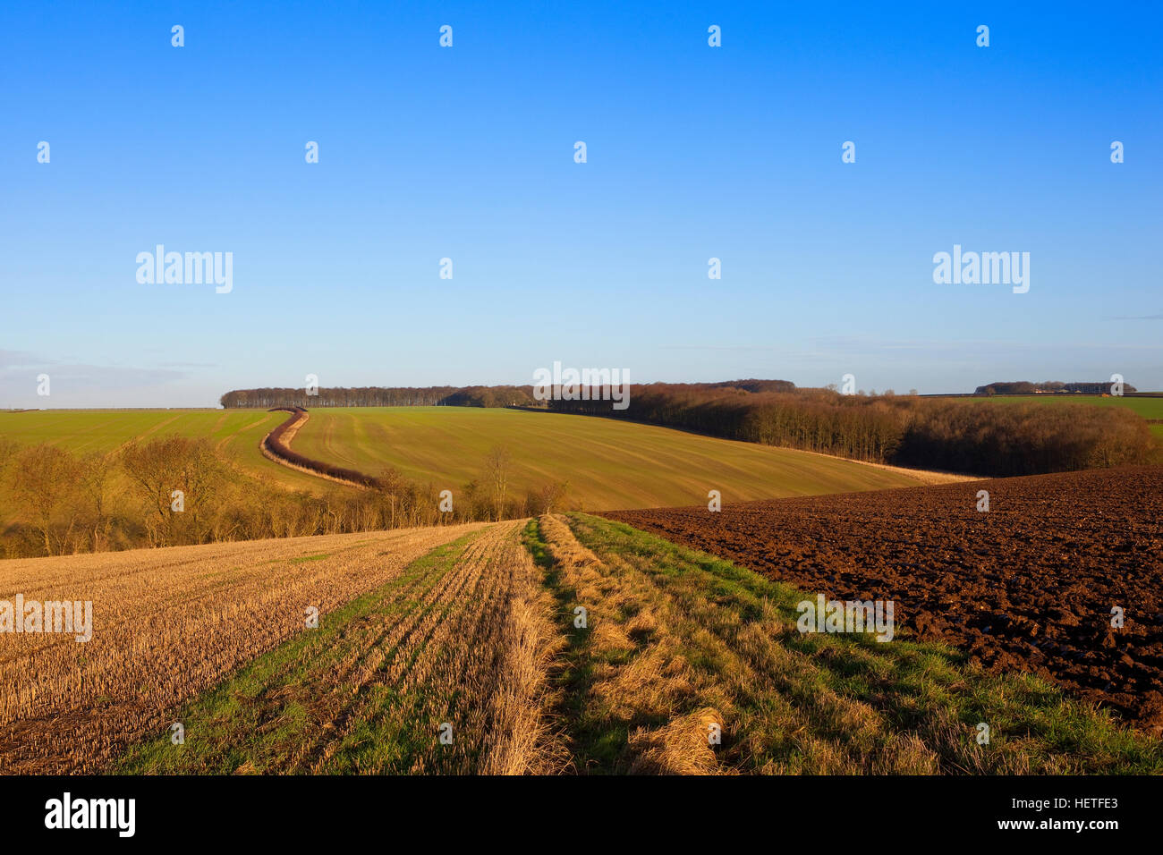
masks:
[[[519,494],[494,448],[468,484],[419,484],[387,469],[366,490],[285,490],[241,472],[207,439],[164,436],[108,455],[0,437],[0,558],[370,532],[570,510],[569,485]],[[180,497],[180,498],[179,498]],[[180,508],[180,510],[176,510]]]

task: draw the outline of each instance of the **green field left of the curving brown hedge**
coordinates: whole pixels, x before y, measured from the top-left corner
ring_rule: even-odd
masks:
[[[263,457],[258,442],[286,413],[257,409],[36,409],[0,412],[0,437],[24,446],[49,442],[74,454],[115,451],[134,440],[169,434],[214,441],[244,473],[286,487],[320,490],[321,482]]]

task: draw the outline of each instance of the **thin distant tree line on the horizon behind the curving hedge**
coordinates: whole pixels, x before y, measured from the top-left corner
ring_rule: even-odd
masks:
[[[287,407],[528,407],[537,405],[533,386],[426,386],[358,389],[236,389],[219,402],[227,409]]]

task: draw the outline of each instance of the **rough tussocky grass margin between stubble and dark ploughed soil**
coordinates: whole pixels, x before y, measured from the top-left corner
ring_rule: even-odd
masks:
[[[580,514],[543,516],[527,537],[563,614],[587,611],[562,705],[579,770],[1163,770],[1157,741],[1026,675],[907,640],[801,635],[802,593],[712,556]],[[976,742],[979,721],[990,746]]]

